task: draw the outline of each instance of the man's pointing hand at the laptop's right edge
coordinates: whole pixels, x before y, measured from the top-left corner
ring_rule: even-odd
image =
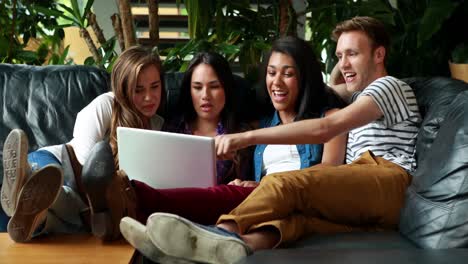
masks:
[[[215,137],[218,159],[233,159],[236,151],[249,146],[246,133],[226,134]]]

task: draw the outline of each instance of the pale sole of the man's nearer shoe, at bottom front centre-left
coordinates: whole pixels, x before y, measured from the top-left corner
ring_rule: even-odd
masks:
[[[209,232],[173,214],[148,218],[147,234],[164,254],[203,263],[235,263],[248,255],[243,241]]]

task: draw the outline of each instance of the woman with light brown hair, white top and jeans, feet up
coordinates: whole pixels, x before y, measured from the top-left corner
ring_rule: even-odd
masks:
[[[8,234],[14,241],[26,242],[46,233],[89,230],[86,223],[89,218],[82,216],[89,212],[88,202],[92,197],[86,196],[81,186],[81,167],[84,173],[87,168],[99,167],[95,157],[109,147],[103,140],[109,140],[112,154],[117,157],[118,126],[161,129],[164,120],[157,114],[165,100],[161,76],[159,56],[148,49],[132,47],[114,64],[112,92],[96,97],[78,113],[70,142],[27,154],[25,133],[20,129],[10,132],[3,150],[1,203],[5,213],[11,216]],[[64,181],[64,173],[68,171],[74,176],[65,175]],[[99,221],[99,216],[91,220]],[[103,239],[116,236],[93,233]]]

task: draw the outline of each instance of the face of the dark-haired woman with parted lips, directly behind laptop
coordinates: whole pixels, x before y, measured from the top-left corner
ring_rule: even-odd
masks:
[[[224,87],[208,64],[195,67],[190,82],[190,94],[197,118],[219,122],[226,103]]]

